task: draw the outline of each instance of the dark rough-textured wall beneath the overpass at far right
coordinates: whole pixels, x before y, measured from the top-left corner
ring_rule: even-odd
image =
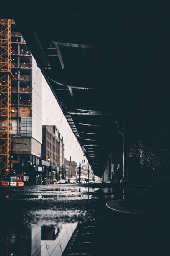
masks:
[[[136,135],[129,156],[130,171],[134,173],[135,168],[136,175],[170,176],[170,119]]]

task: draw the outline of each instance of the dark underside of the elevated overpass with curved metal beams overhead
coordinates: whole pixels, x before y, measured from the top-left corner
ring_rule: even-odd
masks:
[[[118,123],[126,118],[132,133],[142,131],[166,101],[160,81],[168,64],[167,9],[163,1],[44,0],[23,8],[19,3],[11,2],[10,17],[94,174],[102,176],[109,147],[121,141]]]

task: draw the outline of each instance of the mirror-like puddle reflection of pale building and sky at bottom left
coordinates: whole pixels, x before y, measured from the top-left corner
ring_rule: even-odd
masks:
[[[0,231],[1,256],[61,256],[77,223]]]

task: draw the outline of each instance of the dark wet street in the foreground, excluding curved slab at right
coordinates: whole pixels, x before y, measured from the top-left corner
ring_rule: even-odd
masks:
[[[168,238],[165,223],[117,215],[106,202],[155,197],[149,186],[0,187],[0,256],[151,255],[160,232],[162,245]]]

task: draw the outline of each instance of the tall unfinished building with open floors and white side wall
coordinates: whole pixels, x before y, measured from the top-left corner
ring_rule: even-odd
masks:
[[[13,20],[11,72],[11,171],[41,184],[42,74]]]

